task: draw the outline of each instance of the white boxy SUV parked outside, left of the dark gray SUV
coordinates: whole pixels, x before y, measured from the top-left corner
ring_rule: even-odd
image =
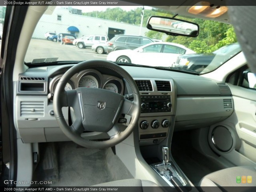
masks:
[[[77,41],[77,46],[83,49],[85,47],[91,47],[96,43],[106,43],[108,40],[108,37],[105,35],[90,35],[87,39]]]

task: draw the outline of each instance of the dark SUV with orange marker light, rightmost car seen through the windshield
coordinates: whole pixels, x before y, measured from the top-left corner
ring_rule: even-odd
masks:
[[[241,52],[238,43],[231,43],[217,49],[213,53],[196,53],[179,55],[173,67],[179,69],[189,69],[191,71],[202,72],[210,63],[217,65],[223,60],[227,61],[229,58],[234,57],[237,53]]]

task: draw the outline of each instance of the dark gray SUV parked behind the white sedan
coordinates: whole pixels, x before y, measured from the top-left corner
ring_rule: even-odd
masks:
[[[143,36],[115,35],[115,37],[108,42],[109,47],[107,48],[107,52],[110,53],[111,51],[122,49],[136,49],[151,42],[154,41]]]

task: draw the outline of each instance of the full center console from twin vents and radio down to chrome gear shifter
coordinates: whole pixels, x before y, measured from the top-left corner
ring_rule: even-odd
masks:
[[[138,122],[140,153],[156,177],[166,182],[166,186],[187,191],[184,186],[189,186],[189,182],[169,153],[176,110],[174,81],[154,78],[134,80],[141,96]]]

